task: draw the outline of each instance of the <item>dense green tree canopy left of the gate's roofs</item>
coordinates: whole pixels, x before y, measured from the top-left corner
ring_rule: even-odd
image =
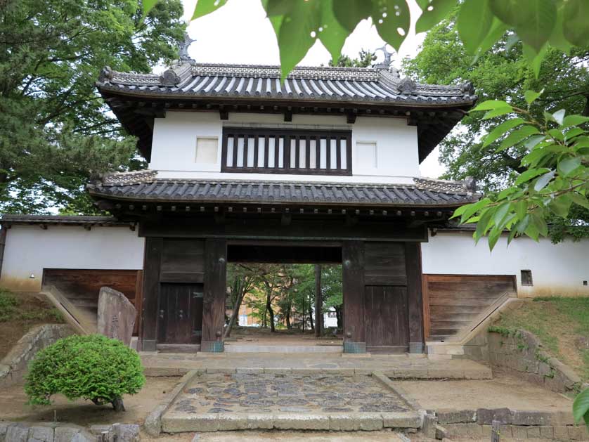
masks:
[[[135,139],[94,83],[105,65],[150,72],[176,57],[181,0],[0,3],[0,210],[91,214],[91,174],[135,169]]]

